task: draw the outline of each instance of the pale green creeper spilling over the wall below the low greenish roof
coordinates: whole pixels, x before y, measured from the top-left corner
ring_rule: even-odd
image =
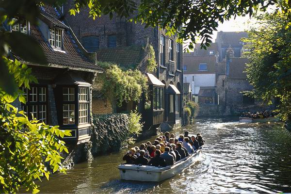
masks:
[[[117,106],[124,101],[139,101],[147,90],[147,78],[139,70],[122,70],[110,63],[104,63],[102,67],[107,67],[102,77],[103,93],[111,99],[116,98]]]

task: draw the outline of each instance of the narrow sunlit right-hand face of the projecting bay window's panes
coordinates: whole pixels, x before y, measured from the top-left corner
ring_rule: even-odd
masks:
[[[79,88],[79,124],[88,123],[89,120],[89,88]]]

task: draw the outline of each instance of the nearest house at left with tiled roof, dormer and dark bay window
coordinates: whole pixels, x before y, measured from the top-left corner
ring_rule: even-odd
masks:
[[[71,130],[72,136],[64,137],[67,143],[87,142],[91,128],[91,86],[103,69],[96,65],[95,54],[83,49],[71,29],[59,20],[62,13],[58,9],[49,6],[40,9],[38,26],[29,22],[21,26],[5,25],[7,31],[19,31],[35,38],[48,62],[36,64],[14,56],[32,68],[32,75],[39,82],[31,84],[30,90],[22,88],[27,103],[18,101],[16,106],[29,119]]]

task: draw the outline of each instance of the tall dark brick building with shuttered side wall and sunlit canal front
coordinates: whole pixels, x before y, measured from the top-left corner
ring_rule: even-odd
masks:
[[[68,13],[70,8],[71,1],[64,5],[65,18],[88,51],[98,53],[98,50],[105,48],[110,50],[143,47],[147,42],[153,46],[157,71],[151,73],[164,84],[164,87],[161,89],[162,85],[151,85],[154,92],[152,114],[153,117],[159,117],[158,120],[153,118],[152,120],[157,122],[152,124],[158,126],[163,122],[180,123],[183,112],[183,47],[177,43],[177,36],[168,37],[165,31],[159,30],[158,27],[145,28],[145,25],[128,22],[118,16],[113,16],[112,20],[108,15],[93,20],[88,18],[88,10],[82,10],[80,14],[70,16]],[[97,60],[99,60],[98,54]]]

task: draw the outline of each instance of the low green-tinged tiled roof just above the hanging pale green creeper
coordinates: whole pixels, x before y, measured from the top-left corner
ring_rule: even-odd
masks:
[[[137,66],[143,60],[145,50],[142,46],[129,46],[98,49],[96,53],[97,61]]]

